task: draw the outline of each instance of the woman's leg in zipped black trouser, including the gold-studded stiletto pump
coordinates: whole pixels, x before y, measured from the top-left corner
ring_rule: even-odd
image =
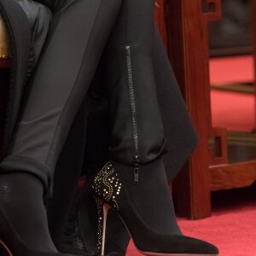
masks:
[[[111,160],[93,183],[99,252],[110,206],[146,255],[216,255],[211,244],[181,236],[175,219],[162,160],[167,147],[154,76],[153,17],[153,0],[124,0],[104,54],[112,135]]]

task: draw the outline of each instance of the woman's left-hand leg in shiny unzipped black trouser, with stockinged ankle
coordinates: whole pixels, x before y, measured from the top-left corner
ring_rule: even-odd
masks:
[[[20,237],[30,249],[55,252],[43,196],[51,193],[55,162],[118,12],[119,0],[76,0],[56,12],[26,90],[9,155],[0,165],[0,208],[3,219],[9,218],[3,223],[15,227],[7,236]],[[5,242],[18,255],[11,241]]]

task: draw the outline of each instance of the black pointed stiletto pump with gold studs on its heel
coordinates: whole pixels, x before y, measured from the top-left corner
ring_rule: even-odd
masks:
[[[98,253],[104,252],[104,232],[106,231],[104,222],[106,222],[108,209],[111,207],[125,223],[140,253],[165,256],[218,255],[218,248],[206,241],[188,236],[161,234],[150,229],[131,201],[127,189],[125,189],[125,183],[122,182],[119,175],[119,170],[115,170],[111,162],[108,162],[98,172],[92,189],[98,207]],[[150,195],[148,196],[150,197]]]

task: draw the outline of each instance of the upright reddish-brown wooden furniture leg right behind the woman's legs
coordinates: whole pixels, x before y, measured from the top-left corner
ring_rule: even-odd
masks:
[[[205,218],[211,214],[210,175],[212,136],[207,23],[220,18],[219,0],[166,0],[167,49],[199,145],[173,183],[177,214]]]

